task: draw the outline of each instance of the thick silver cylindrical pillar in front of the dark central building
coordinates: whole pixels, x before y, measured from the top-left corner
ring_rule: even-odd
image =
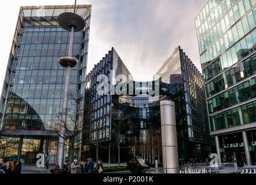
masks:
[[[163,173],[179,173],[178,145],[174,102],[160,102]]]

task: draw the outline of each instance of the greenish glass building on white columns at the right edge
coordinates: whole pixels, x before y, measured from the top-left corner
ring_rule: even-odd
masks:
[[[219,162],[256,160],[256,1],[207,1],[195,17]]]

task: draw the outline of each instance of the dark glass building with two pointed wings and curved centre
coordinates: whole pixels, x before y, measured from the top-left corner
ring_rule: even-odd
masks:
[[[116,77],[123,74],[127,81],[118,94]],[[106,75],[107,94],[98,94]],[[117,77],[118,78],[118,77]],[[122,81],[123,82],[123,81]],[[202,75],[177,47],[154,76],[152,82],[134,82],[125,64],[112,48],[111,51],[86,77],[87,105],[91,110],[84,128],[82,160],[98,156],[111,162],[127,161],[131,155],[141,156],[146,161],[162,161],[160,128],[160,100],[175,102],[179,157],[206,158],[215,149],[214,138],[209,135],[206,101]],[[149,91],[155,91],[152,95]],[[159,96],[158,96],[159,95]]]

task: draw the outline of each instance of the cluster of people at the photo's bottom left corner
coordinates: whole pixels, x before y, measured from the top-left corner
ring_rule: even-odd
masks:
[[[7,161],[3,164],[3,158],[0,158],[0,173],[7,173],[7,174],[19,174],[21,173],[21,162],[14,160]]]

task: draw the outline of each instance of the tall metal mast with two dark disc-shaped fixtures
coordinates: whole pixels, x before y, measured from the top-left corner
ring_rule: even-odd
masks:
[[[81,31],[85,27],[85,21],[81,16],[75,13],[76,9],[76,1],[74,7],[74,13],[72,12],[65,12],[61,13],[58,18],[57,22],[61,28],[71,31],[70,35],[70,47],[68,49],[68,57],[60,57],[58,62],[64,68],[67,68],[66,77],[65,77],[65,87],[64,87],[64,97],[63,97],[63,106],[61,110],[61,121],[60,121],[60,131],[58,136],[58,148],[57,148],[57,162],[60,166],[63,166],[64,161],[64,143],[65,143],[65,123],[67,121],[67,105],[68,105],[68,89],[70,86],[70,70],[78,61],[75,58],[72,58],[72,49],[73,49],[73,39],[74,39],[74,32]]]

